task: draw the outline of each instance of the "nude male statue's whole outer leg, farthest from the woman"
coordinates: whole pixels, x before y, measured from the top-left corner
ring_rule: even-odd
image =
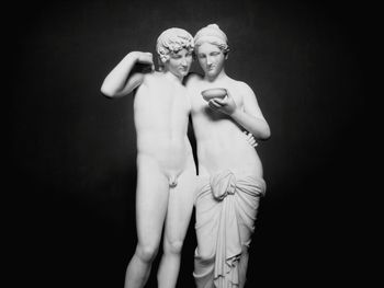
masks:
[[[125,288],[147,281],[160,243],[168,205],[168,181],[151,159],[138,158],[136,192],[137,246],[125,276]]]

